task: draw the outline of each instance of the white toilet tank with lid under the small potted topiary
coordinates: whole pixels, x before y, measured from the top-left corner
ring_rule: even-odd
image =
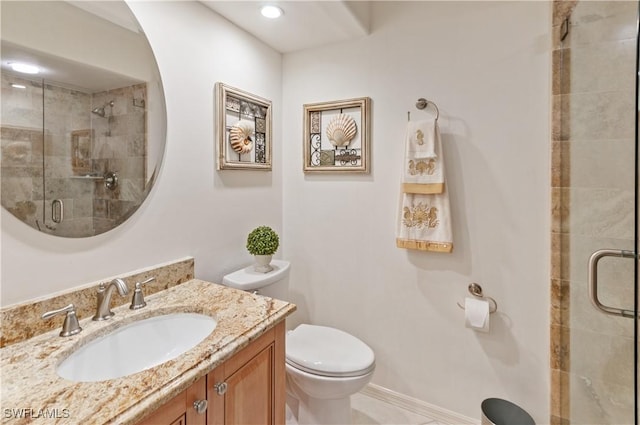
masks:
[[[260,273],[253,269],[252,264],[224,276],[222,284],[231,288],[257,292],[267,297],[289,301],[289,262],[272,260],[271,267],[273,267],[272,271]]]

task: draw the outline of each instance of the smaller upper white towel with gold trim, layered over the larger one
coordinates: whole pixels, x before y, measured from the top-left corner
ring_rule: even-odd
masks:
[[[442,145],[435,120],[407,124],[402,190],[405,193],[442,193],[444,190]]]

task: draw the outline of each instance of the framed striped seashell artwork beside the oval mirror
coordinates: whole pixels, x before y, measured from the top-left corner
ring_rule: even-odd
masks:
[[[218,170],[271,170],[271,101],[216,83]]]

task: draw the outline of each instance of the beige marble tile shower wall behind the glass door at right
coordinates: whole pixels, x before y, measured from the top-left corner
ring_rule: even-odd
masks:
[[[636,2],[554,3],[553,424],[633,423],[633,321],[591,306],[587,270],[598,249],[634,247],[636,14]],[[601,261],[601,299],[632,308],[633,279],[633,262]]]

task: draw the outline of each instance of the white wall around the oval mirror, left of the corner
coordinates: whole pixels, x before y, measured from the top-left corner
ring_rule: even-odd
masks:
[[[282,56],[197,2],[132,2],[162,74],[168,136],[162,170],[124,225],[84,239],[48,236],[2,209],[2,305],[192,255],[220,281],[251,261],[247,233],[282,229],[282,150],[273,172],[215,171],[214,84],[273,101],[281,116]],[[281,122],[273,122],[274,140]]]

